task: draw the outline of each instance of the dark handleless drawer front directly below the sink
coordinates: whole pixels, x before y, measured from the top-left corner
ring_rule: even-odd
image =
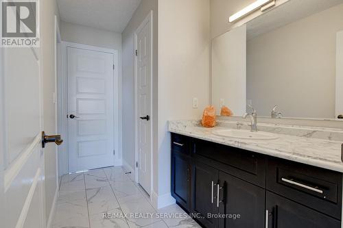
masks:
[[[197,139],[193,139],[191,145],[196,159],[265,188],[264,155]]]

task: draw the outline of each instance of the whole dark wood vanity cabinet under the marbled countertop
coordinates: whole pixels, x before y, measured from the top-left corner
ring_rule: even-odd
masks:
[[[207,228],[341,227],[342,173],[178,134],[171,194]]]

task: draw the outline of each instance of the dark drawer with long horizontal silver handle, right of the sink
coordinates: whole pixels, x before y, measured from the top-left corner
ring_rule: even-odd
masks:
[[[267,189],[324,214],[341,219],[342,174],[268,158]]]

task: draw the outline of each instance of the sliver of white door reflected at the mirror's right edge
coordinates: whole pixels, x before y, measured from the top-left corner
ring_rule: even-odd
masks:
[[[335,116],[343,115],[343,31],[337,34],[336,43],[336,112]]]

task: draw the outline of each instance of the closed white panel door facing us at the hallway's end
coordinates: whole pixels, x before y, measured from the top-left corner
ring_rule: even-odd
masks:
[[[113,53],[67,48],[69,172],[113,166]]]

